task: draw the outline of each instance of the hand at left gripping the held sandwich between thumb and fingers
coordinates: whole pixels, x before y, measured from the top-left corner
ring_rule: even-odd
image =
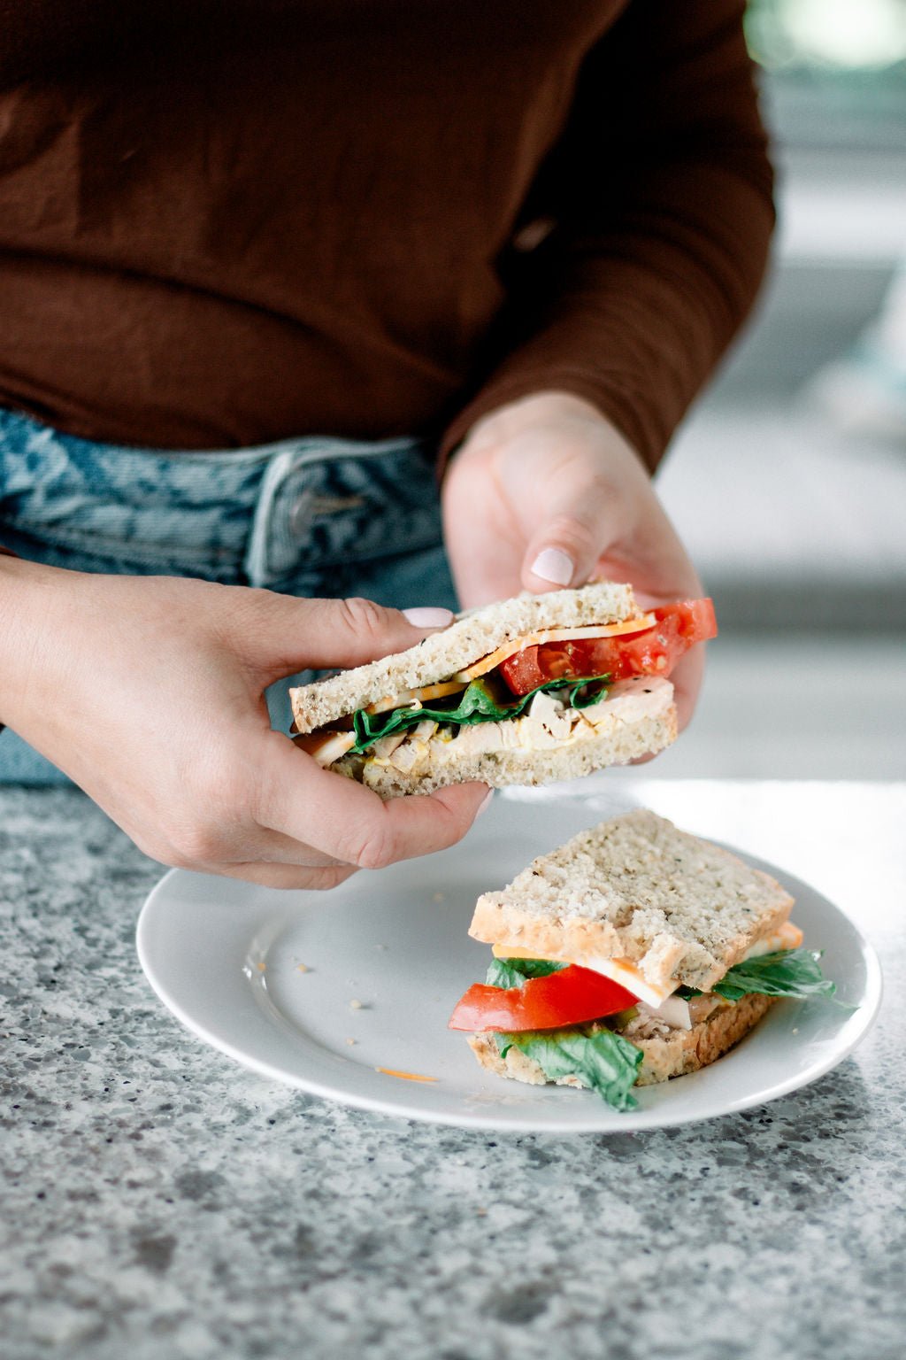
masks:
[[[0,558],[0,721],[164,864],[329,888],[452,845],[488,793],[470,783],[384,804],[270,730],[274,680],[432,631],[395,609]]]

